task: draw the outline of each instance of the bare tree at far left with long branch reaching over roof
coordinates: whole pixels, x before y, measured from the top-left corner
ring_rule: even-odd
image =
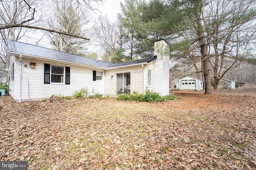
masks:
[[[51,0],[49,0],[51,2]],[[46,12],[42,11],[45,3],[48,1],[40,0],[14,0],[14,1],[0,1],[0,33],[1,33],[1,55],[0,61],[6,64],[6,69],[8,70],[9,56],[6,53],[8,49],[8,39],[19,40],[26,31],[28,30],[43,30],[51,33],[58,33],[62,35],[68,35],[80,39],[89,40],[84,35],[77,35],[72,33],[67,33],[64,31],[59,31],[56,29],[51,29],[50,27],[45,27],[45,24],[40,22],[45,21],[44,17]],[[72,0],[76,2],[80,10],[92,8],[91,2],[104,2],[104,0]],[[6,56],[7,55],[7,56]]]

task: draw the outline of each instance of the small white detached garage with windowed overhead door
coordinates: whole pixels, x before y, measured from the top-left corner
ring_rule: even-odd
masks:
[[[197,78],[186,76],[179,80],[180,90],[202,90],[202,81]]]

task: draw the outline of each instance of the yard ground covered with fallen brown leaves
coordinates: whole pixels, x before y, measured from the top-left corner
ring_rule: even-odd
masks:
[[[256,169],[256,88],[162,103],[0,98],[0,160],[28,169]]]

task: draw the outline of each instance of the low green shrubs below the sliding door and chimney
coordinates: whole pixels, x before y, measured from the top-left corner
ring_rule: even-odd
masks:
[[[138,102],[164,102],[165,100],[175,100],[177,96],[167,95],[160,96],[159,93],[146,89],[146,94],[139,94],[138,92],[117,94],[117,100],[130,100]],[[179,98],[180,99],[180,98]]]

